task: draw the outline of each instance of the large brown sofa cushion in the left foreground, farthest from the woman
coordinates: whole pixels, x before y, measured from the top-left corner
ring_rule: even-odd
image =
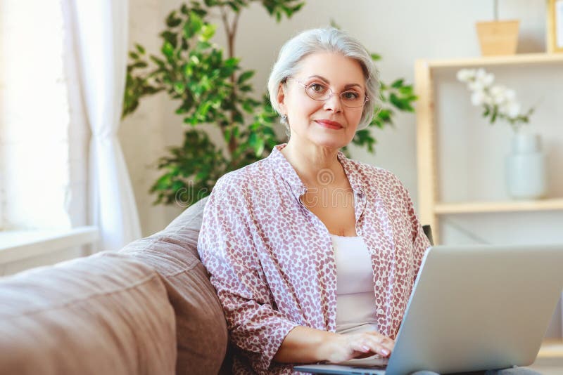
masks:
[[[158,274],[103,252],[0,279],[2,374],[173,374],[175,315]]]

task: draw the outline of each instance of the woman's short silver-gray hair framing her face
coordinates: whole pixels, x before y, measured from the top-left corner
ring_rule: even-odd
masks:
[[[274,110],[281,115],[277,103],[279,84],[286,81],[287,77],[296,74],[300,69],[301,60],[315,52],[341,53],[341,55],[360,63],[364,72],[366,95],[369,100],[365,103],[358,129],[367,128],[374,118],[375,108],[381,108],[379,72],[365,47],[357,39],[334,27],[305,30],[286,41],[284,46],[281,47],[268,79],[268,93]],[[289,132],[286,116],[281,115],[281,123],[286,126]]]

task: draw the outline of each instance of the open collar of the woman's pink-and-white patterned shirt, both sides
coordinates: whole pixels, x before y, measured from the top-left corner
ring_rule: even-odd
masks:
[[[281,153],[281,150],[286,147],[286,145],[287,143],[275,145],[274,148],[272,148],[272,152],[266,159],[270,162],[272,169],[279,174],[281,179],[288,183],[296,197],[301,197],[301,195],[307,192],[307,187],[301,178],[299,178],[297,172],[293,169],[293,166],[291,166],[286,157],[284,157],[284,154]],[[346,176],[348,177],[350,187],[352,187],[355,194],[362,195],[364,192],[364,185],[362,183],[362,179],[360,178],[358,167],[341,151],[337,153],[337,157],[339,162],[342,164]]]

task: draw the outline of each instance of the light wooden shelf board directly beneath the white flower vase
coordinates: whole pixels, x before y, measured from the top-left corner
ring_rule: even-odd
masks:
[[[437,203],[434,206],[434,213],[549,211],[561,209],[563,209],[563,198],[550,198],[531,201]]]

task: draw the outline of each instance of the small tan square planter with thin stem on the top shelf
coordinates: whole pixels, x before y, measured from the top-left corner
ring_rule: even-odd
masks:
[[[498,20],[498,0],[494,0],[494,21],[476,22],[481,55],[514,55],[518,45],[519,20]]]

